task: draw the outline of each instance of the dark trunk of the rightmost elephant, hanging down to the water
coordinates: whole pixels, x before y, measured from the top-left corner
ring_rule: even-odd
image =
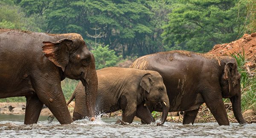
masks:
[[[236,120],[239,124],[246,123],[241,112],[241,93],[230,98]]]

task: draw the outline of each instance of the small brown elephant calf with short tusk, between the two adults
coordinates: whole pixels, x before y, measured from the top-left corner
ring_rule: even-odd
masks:
[[[129,68],[105,68],[97,70],[98,92],[96,98],[96,114],[115,112],[122,109],[122,121],[132,123],[134,116],[149,124],[154,122],[145,103],[158,103],[163,111],[161,122],[166,121],[169,110],[169,99],[166,87],[158,72]],[[84,89],[79,82],[70,98],[75,98],[73,120],[86,117],[83,103]],[[166,105],[165,105],[166,103]]]

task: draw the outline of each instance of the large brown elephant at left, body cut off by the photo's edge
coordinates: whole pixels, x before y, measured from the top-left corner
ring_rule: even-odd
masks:
[[[61,124],[72,118],[61,80],[81,80],[87,114],[94,116],[98,80],[95,59],[79,34],[0,29],[0,98],[25,96],[25,124],[37,123],[45,104]]]

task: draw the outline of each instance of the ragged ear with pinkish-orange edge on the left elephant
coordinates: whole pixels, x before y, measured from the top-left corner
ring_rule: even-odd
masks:
[[[72,45],[73,40],[64,38],[57,42],[43,42],[44,55],[51,60],[56,66],[61,67],[64,72],[65,67],[69,61],[69,47]]]

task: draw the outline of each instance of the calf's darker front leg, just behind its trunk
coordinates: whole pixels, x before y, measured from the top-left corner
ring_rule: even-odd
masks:
[[[151,112],[147,106],[144,106],[144,103],[137,106],[136,116],[141,119],[142,124],[150,124],[151,122],[155,122]]]

